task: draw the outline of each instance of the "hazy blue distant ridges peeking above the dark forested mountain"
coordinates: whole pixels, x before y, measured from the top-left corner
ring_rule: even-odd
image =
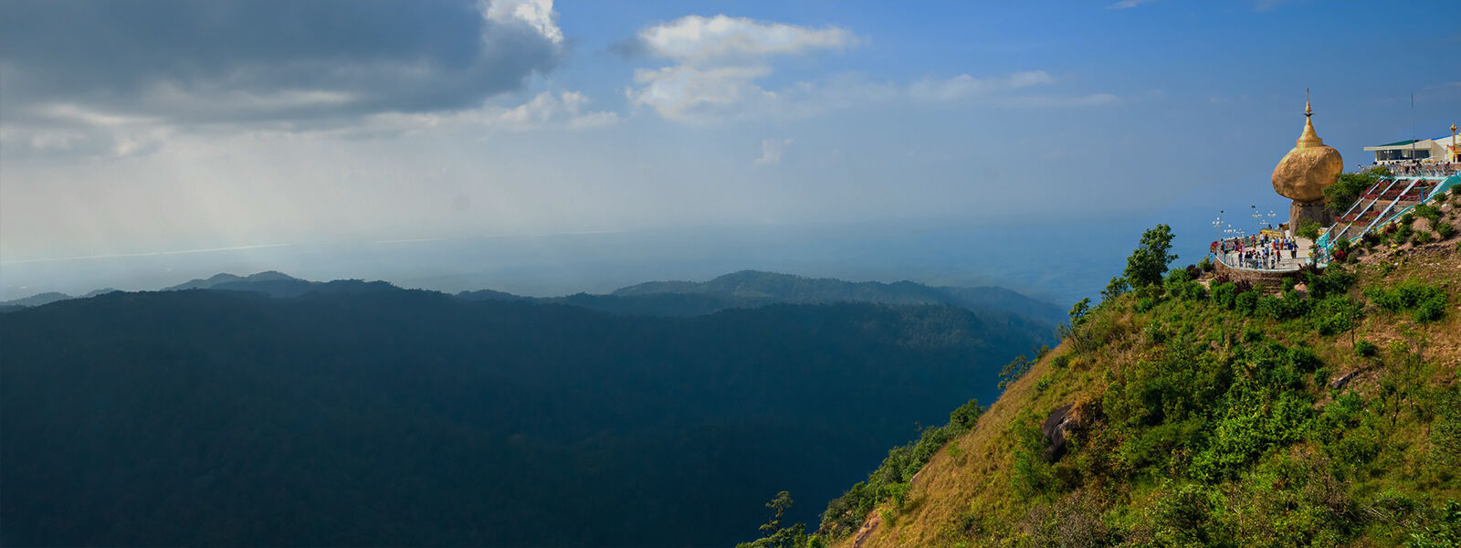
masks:
[[[300,297],[308,292],[367,292],[399,289],[387,282],[333,281],[313,282],[267,270],[248,276],[219,273],[212,278],[191,279],[161,291],[215,289],[253,291],[278,298]],[[99,289],[85,297],[95,297],[117,289]],[[974,313],[1011,313],[1040,323],[1053,324],[1065,320],[1061,307],[1039,301],[1018,292],[998,288],[929,286],[909,281],[846,282],[833,278],[802,278],[774,272],[741,270],[707,282],[657,281],[619,288],[611,294],[576,294],[565,297],[522,297],[508,292],[479,289],[456,294],[468,301],[535,301],[567,304],[614,314],[628,316],[675,316],[690,317],[716,313],[726,308],[755,308],[768,304],[830,304],[830,302],[880,302],[880,304],[947,304]],[[72,295],[47,292],[13,301],[0,302],[0,311],[18,307],[37,307],[75,298]]]

